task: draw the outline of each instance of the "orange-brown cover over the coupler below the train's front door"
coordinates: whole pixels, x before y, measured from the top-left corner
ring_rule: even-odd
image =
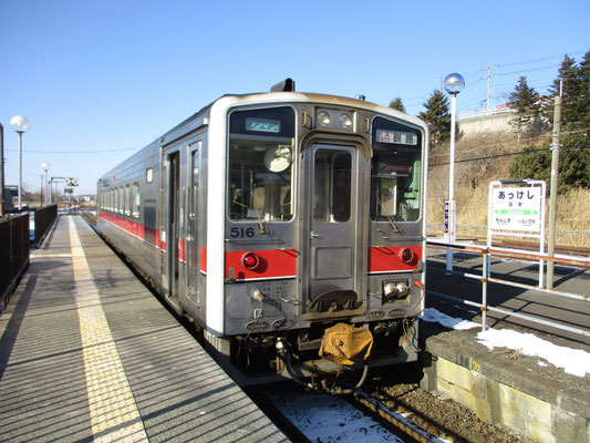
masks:
[[[320,357],[327,357],[339,364],[351,365],[366,360],[373,348],[373,334],[364,328],[338,323],[328,328],[322,337]]]

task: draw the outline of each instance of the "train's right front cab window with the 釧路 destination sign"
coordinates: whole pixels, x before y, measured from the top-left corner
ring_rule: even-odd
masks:
[[[377,117],[373,122],[371,219],[420,218],[422,135],[417,130]]]

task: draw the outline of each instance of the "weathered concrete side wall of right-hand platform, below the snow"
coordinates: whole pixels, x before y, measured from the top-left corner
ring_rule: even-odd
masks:
[[[590,392],[510,365],[477,347],[431,337],[421,387],[466,405],[491,424],[503,424],[544,443],[590,442]]]

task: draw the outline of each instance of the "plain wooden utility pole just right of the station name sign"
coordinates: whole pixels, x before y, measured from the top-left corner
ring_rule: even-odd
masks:
[[[561,135],[561,101],[563,97],[563,80],[559,81],[559,95],[555,97],[553,140],[551,143],[551,187],[549,190],[549,238],[547,255],[553,257],[556,249],[557,224],[557,186],[559,174],[559,137]],[[547,261],[547,289],[553,289],[553,260]]]

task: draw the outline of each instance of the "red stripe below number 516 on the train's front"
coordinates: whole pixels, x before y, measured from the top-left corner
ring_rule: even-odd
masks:
[[[255,254],[258,257],[256,268],[248,269],[244,266],[242,258],[246,254]],[[226,253],[226,278],[229,278],[230,268],[234,268],[236,280],[293,278],[297,276],[297,250],[271,249]]]

